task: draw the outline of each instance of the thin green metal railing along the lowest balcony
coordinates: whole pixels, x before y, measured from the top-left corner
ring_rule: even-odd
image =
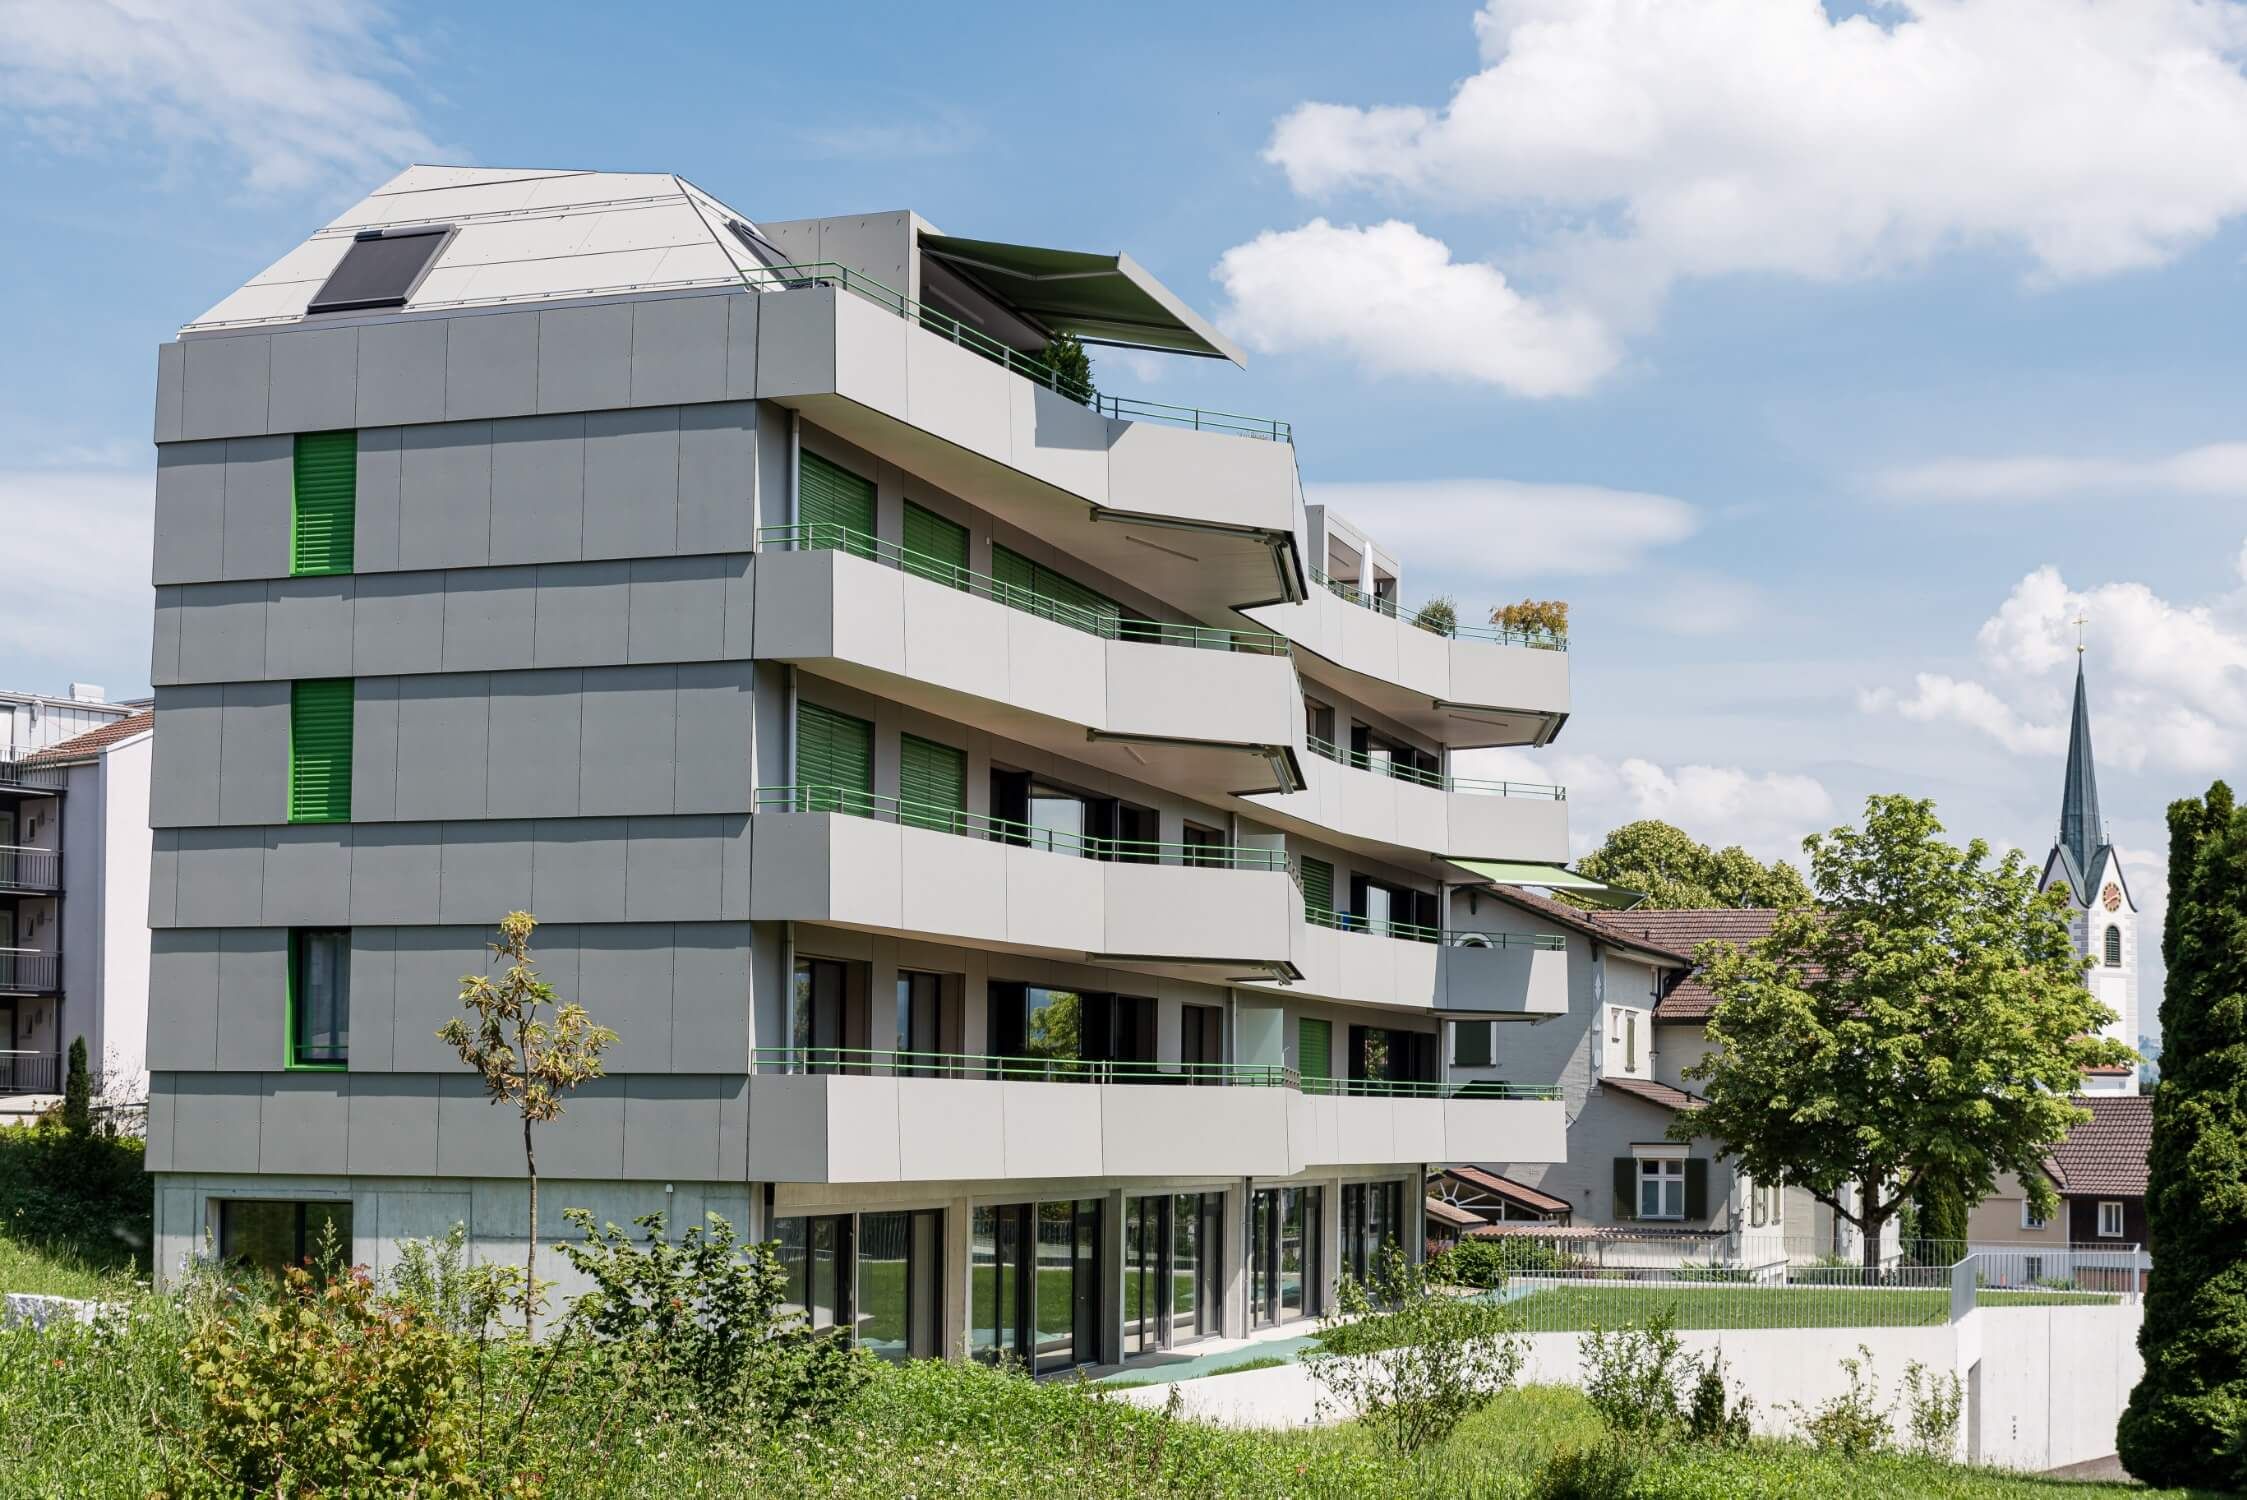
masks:
[[[858,1078],[962,1078],[980,1082],[1128,1082],[1297,1089],[1377,1098],[1559,1098],[1557,1085],[1429,1082],[1409,1078],[1319,1078],[1261,1062],[1141,1062],[1112,1058],[995,1058],[984,1053],[888,1051],[874,1046],[755,1046],[750,1067],[768,1073]]]

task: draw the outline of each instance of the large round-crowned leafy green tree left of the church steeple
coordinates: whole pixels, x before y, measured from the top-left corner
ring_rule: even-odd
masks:
[[[1968,1201],[2013,1172],[2054,1208],[2045,1154],[2090,1118],[2083,1069],[2135,1053],[2083,986],[2065,896],[2020,851],[1946,844],[1932,802],[1870,797],[1863,829],[1802,842],[1816,905],[1784,909],[1748,948],[1705,943],[1710,1053],[1685,1078],[1714,1136],[1755,1181],[1789,1181],[1865,1237],[1928,1177]]]

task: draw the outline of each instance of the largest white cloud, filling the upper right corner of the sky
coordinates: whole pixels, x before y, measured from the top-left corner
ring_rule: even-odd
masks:
[[[1332,278],[1297,299],[1236,290],[1243,328],[1274,348],[1326,341],[1373,368],[1566,395],[1618,364],[1620,332],[1681,278],[1845,281],[1998,249],[2034,281],[2072,281],[2168,263],[2247,213],[2247,9],[1872,11],[1490,0],[1481,72],[1440,108],[1303,103],[1265,155],[1306,198],[1371,193],[1528,225],[1517,276],[1454,265],[1407,222],[1337,231],[1321,218],[1227,256]],[[1375,236],[1398,249],[1375,254]],[[1366,285],[1400,263],[1398,285]],[[1539,290],[1517,285],[1523,269]],[[1461,299],[1479,305],[1454,323]]]

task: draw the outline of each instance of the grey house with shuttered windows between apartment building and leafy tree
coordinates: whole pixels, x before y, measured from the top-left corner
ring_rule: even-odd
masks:
[[[1721,1235],[1735,1255],[1773,1260],[1858,1253],[1856,1231],[1802,1188],[1748,1179],[1708,1136],[1670,1138],[1676,1116],[1701,1107],[1685,1069],[1708,1055],[1705,1022],[1717,1004],[1692,954],[1712,939],[1753,943],[1775,912],[1584,912],[1505,885],[1490,896],[1519,921],[1564,927],[1571,979],[1580,981],[1564,1019],[1508,1037],[1488,1069],[1481,1058],[1499,1042],[1454,1028],[1456,1076],[1548,1073],[1568,1103],[1566,1161],[1488,1163],[1494,1172],[1566,1201],[1577,1233]]]

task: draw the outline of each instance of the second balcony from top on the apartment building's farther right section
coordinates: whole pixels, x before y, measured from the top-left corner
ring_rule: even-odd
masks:
[[[1344,750],[1332,741],[1303,741],[1303,790],[1261,795],[1256,804],[1294,831],[1393,858],[1398,849],[1461,860],[1568,858],[1568,790],[1532,781],[1445,777],[1395,761]],[[1483,849],[1523,853],[1483,856]],[[1532,851],[1532,853],[1530,853]]]

